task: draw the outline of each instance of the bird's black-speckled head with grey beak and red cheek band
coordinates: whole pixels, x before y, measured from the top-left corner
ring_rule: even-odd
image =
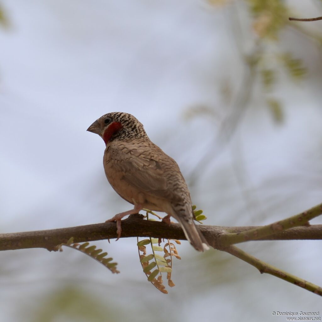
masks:
[[[123,112],[111,112],[98,118],[87,131],[98,134],[105,142],[126,140],[146,136],[146,132],[133,115]]]

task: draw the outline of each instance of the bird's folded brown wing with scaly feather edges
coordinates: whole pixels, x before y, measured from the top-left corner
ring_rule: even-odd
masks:
[[[113,167],[123,173],[123,180],[161,198],[175,197],[172,184],[183,177],[171,157],[154,144],[146,147],[126,146],[121,151],[118,147],[118,151],[110,153],[113,153]]]

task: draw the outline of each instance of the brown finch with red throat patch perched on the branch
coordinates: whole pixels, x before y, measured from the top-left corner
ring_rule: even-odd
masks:
[[[121,219],[142,209],[164,212],[181,225],[186,239],[197,251],[209,249],[203,234],[194,224],[191,196],[179,166],[147,136],[137,118],[124,112],[110,112],[90,125],[87,131],[98,134],[106,145],[103,165],[113,189],[134,208],[118,213],[107,222]]]

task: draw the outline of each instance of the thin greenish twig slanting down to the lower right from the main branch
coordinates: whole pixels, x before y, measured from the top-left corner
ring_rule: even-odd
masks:
[[[313,292],[317,295],[322,296],[322,288],[306,281],[305,279],[301,279],[295,275],[289,274],[288,272],[285,272],[283,270],[280,270],[268,263],[265,263],[256,257],[242,251],[236,246],[229,246],[226,249],[223,249],[223,251],[226,251],[227,253],[230,253],[236,257],[238,257],[241,260],[244,260],[245,262],[251,264],[252,266],[256,267],[261,274],[267,273],[270,275],[273,275],[275,277],[278,277],[279,279],[284,279],[285,281],[295,284],[299,287],[302,287],[303,289],[306,289],[310,292]]]

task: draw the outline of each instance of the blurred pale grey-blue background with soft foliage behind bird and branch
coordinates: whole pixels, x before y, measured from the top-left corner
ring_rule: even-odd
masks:
[[[1,230],[127,210],[104,177],[102,142],[84,133],[112,110],[134,114],[177,160],[206,224],[261,225],[320,203],[322,22],[288,17],[321,12],[319,0],[2,0]],[[270,321],[320,307],[314,294],[186,243],[176,287],[159,294],[135,239],[95,244],[120,274],[70,249],[1,253],[0,321]],[[321,285],[319,247],[242,245]]]

